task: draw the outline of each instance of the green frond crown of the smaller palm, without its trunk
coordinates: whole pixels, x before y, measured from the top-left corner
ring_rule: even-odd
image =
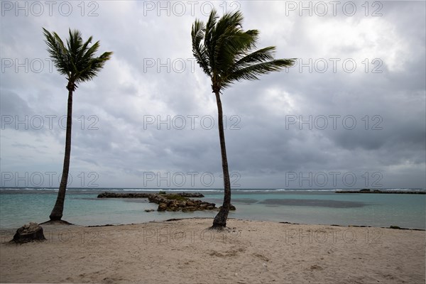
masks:
[[[99,49],[99,41],[89,48],[92,36],[83,43],[82,35],[78,30],[70,29],[70,38],[67,38],[66,46],[57,33],[50,33],[45,28],[43,33],[53,64],[60,74],[67,76],[69,82],[67,88],[72,88],[72,91],[80,82],[92,80],[104,67],[105,62],[111,58],[112,52],[95,57],[94,54]]]

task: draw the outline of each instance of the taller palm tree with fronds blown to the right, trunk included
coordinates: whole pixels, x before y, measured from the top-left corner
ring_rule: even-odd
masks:
[[[282,70],[293,66],[293,59],[273,58],[275,46],[252,52],[256,48],[259,32],[243,31],[243,15],[240,11],[225,13],[219,20],[212,10],[207,25],[200,20],[192,24],[192,53],[203,72],[212,80],[212,92],[216,96],[219,140],[224,175],[224,202],[214,217],[212,228],[223,229],[231,205],[231,182],[229,181],[228,160],[224,136],[223,111],[220,94],[235,81],[258,80],[258,75]]]

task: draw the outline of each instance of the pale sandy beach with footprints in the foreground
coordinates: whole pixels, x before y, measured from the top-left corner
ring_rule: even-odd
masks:
[[[425,231],[211,219],[1,234],[1,283],[425,283]]]

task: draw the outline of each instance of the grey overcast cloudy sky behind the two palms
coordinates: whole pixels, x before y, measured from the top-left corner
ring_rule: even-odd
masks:
[[[70,187],[222,187],[190,38],[212,6],[298,58],[224,90],[231,187],[425,187],[425,1],[1,1],[1,186],[62,173],[67,82],[44,27],[114,52],[74,93]]]

